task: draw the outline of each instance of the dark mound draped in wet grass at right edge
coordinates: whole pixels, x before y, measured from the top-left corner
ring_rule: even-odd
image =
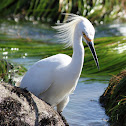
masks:
[[[126,126],[126,70],[113,76],[100,97],[111,126]]]

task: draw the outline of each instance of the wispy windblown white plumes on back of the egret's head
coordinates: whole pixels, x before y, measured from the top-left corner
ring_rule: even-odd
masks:
[[[53,26],[53,28],[57,30],[56,38],[58,38],[58,42],[65,43],[65,47],[67,48],[73,45],[76,24],[84,18],[75,14],[64,15],[67,15],[68,19],[64,23],[57,23],[57,26]]]

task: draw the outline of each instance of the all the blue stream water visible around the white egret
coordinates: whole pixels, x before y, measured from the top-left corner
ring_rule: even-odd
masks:
[[[126,36],[126,24],[99,26],[96,37]],[[56,42],[55,32],[48,25],[33,25],[32,23],[0,24],[0,32],[11,38],[29,38]],[[27,69],[40,60],[40,56],[11,58],[11,62],[23,65]],[[108,81],[94,80],[95,78],[80,78],[76,90],[70,95],[70,102],[63,111],[70,126],[108,126],[104,109],[99,104],[99,96],[107,87]]]

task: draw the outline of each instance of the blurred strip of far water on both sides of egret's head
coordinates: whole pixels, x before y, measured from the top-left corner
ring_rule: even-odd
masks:
[[[126,23],[108,24],[95,27],[95,38],[108,36],[126,36]],[[10,23],[2,22],[0,24],[0,33],[8,34],[8,37],[27,38],[42,40],[44,42],[56,42],[55,32],[50,25],[34,24],[32,22]]]

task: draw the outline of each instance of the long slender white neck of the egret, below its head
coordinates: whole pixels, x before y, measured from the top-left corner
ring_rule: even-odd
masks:
[[[73,38],[73,55],[70,63],[70,70],[72,76],[76,79],[80,77],[84,62],[84,47],[82,43],[82,36],[75,30]]]

